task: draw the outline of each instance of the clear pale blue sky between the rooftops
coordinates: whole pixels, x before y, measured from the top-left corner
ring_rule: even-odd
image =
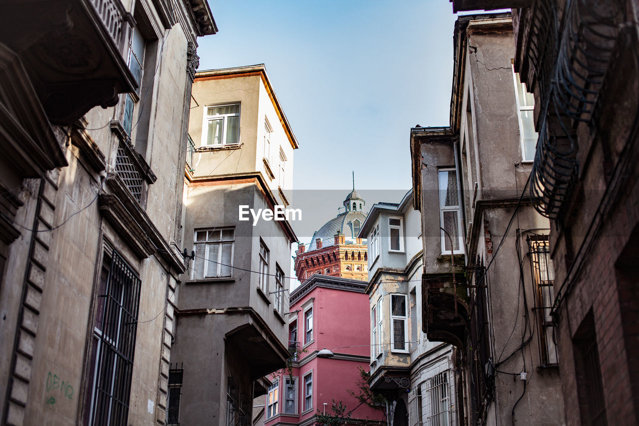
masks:
[[[331,212],[351,170],[357,189],[410,189],[410,128],[449,123],[449,0],[210,6],[219,33],[198,40],[199,69],[265,63],[300,143],[294,189],[342,189]]]

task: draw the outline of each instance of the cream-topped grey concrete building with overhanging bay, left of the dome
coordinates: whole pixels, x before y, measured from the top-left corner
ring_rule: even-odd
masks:
[[[197,72],[192,96],[189,134],[197,142],[183,223],[194,258],[176,303],[171,363],[182,381],[171,414],[176,423],[250,425],[253,400],[270,384],[265,376],[289,356],[284,271],[297,239],[289,221],[254,221],[248,211],[241,220],[239,207],[288,206],[298,144],[263,65]]]

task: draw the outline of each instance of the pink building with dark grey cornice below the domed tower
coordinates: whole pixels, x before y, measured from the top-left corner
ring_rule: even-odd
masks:
[[[358,367],[369,370],[370,325],[366,281],[313,275],[291,293],[290,346],[303,351],[293,361],[293,381],[284,370],[266,395],[265,426],[314,423],[317,411],[342,401],[353,420],[382,420],[381,411],[348,394],[357,393]],[[332,358],[319,358],[329,349]],[[356,408],[357,407],[357,408]]]

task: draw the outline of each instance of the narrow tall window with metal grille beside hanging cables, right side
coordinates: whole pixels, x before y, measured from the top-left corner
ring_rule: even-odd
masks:
[[[544,365],[556,365],[557,345],[555,345],[553,319],[550,315],[555,303],[553,284],[555,283],[555,269],[550,258],[550,244],[548,236],[543,235],[528,241],[530,244],[530,265],[532,266],[532,279],[535,286],[535,304],[539,308],[537,315],[541,327],[539,327],[539,349]]]

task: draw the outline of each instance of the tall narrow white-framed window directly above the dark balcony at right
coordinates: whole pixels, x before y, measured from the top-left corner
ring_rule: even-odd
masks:
[[[459,192],[455,169],[439,171],[440,223],[446,232],[442,234],[442,253],[450,253],[452,242],[453,253],[463,253],[461,236],[461,209],[459,209]]]

